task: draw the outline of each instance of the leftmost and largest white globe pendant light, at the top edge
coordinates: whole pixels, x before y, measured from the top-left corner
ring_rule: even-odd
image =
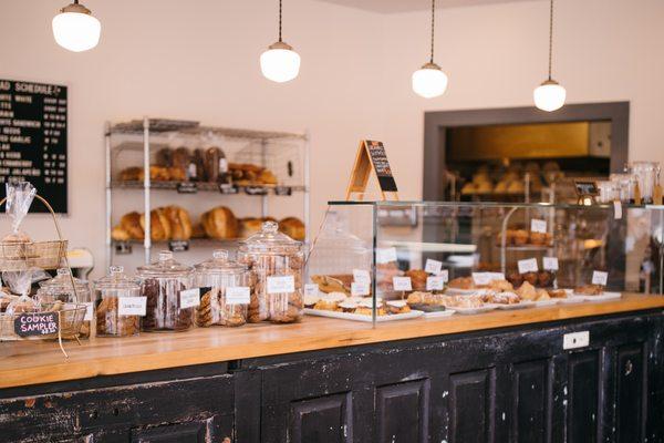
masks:
[[[100,42],[102,23],[79,0],[62,8],[53,18],[53,37],[62,48],[73,52],[87,51]]]

